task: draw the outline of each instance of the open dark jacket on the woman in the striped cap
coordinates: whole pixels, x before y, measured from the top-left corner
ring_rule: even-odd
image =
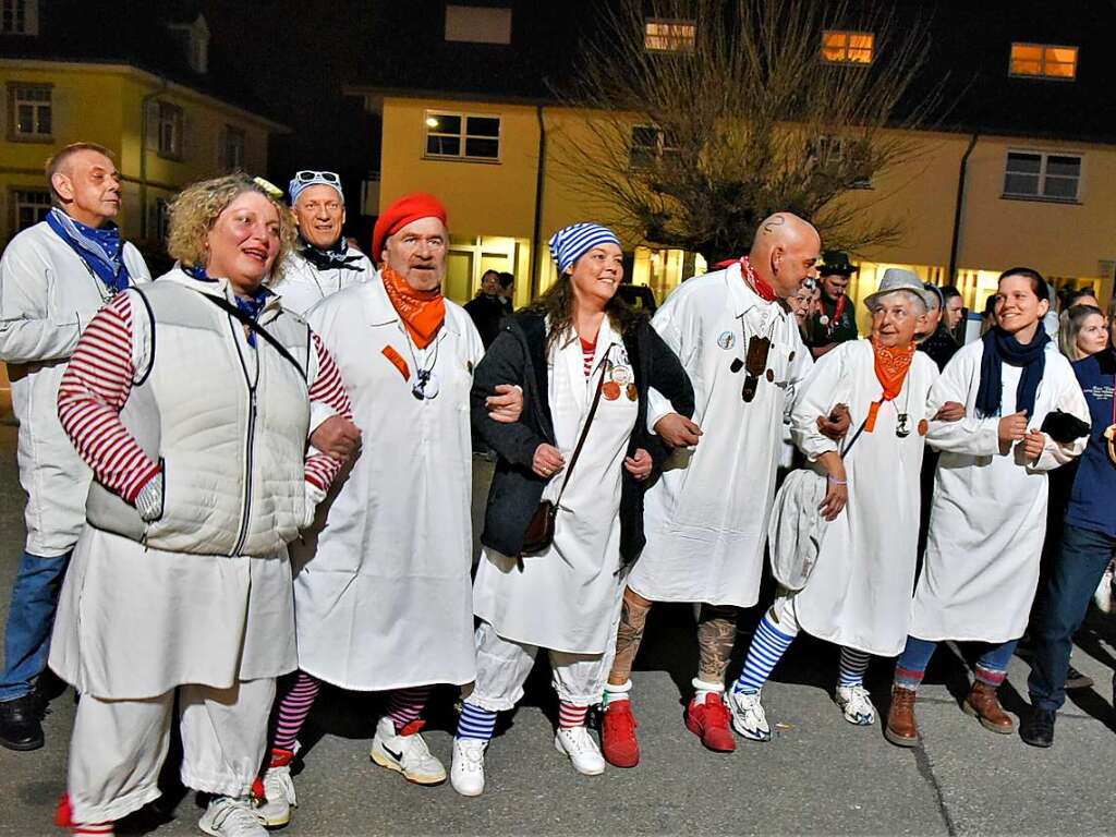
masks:
[[[546,320],[538,314],[519,311],[504,321],[473,376],[473,429],[499,454],[489,489],[481,543],[503,555],[520,554],[527,526],[542,499],[547,480],[531,470],[535,451],[543,443],[556,444],[547,396],[546,338]],[[676,412],[692,416],[693,386],[679,358],[646,319],[637,320],[623,336],[623,341],[639,391],[638,413],[627,455],[643,448],[658,468],[668,450],[658,436],[647,432],[647,388],[654,386],[671,401]],[[519,384],[523,389],[523,413],[513,424],[490,419],[484,407],[484,400],[493,394],[498,384]],[[586,462],[578,464],[578,468],[586,466]],[[559,471],[557,475],[560,478],[564,473]],[[636,481],[624,470],[619,517],[620,557],[625,564],[635,560],[646,542],[643,492],[647,482],[650,480]]]

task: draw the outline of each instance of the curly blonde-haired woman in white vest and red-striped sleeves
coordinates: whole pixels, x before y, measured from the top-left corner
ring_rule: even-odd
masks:
[[[261,182],[189,186],[174,269],[105,306],[62,376],[58,415],[94,473],[50,653],[81,695],[60,812],[77,834],[160,795],[176,692],[182,780],[212,795],[201,829],[264,834],[250,789],[297,664],[287,542],[340,468],[307,452],[311,413],[349,412],[320,340],[263,286],[291,238]]]

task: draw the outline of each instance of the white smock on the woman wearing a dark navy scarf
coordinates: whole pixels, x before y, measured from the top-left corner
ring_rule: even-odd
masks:
[[[1001,455],[999,416],[975,417],[983,348],[978,340],[958,352],[934,388],[936,401],[963,403],[965,420],[935,425],[930,435],[942,456],[911,619],[920,639],[1000,643],[1023,635],[1046,537],[1047,471],[1080,455],[1087,442],[1062,446],[1048,437],[1033,466],[1023,464],[1022,445]],[[1020,373],[1003,365],[1002,415],[1016,412]],[[1072,367],[1050,343],[1028,427],[1041,426],[1055,408],[1089,422]]]

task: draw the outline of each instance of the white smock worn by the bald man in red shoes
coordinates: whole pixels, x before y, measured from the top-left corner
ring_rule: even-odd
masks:
[[[628,586],[654,602],[750,607],[759,598],[768,517],[782,449],[783,412],[812,366],[793,316],[763,301],[740,266],[689,279],[652,320],[694,387],[704,435],[675,451],[647,489],[647,545]],[[753,335],[770,337],[767,368],[744,403],[742,367]],[[651,393],[650,429],[673,412]]]

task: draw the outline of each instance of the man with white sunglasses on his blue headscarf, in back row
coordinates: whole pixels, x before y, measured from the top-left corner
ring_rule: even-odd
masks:
[[[272,289],[282,306],[304,315],[331,294],[376,275],[372,260],[341,235],[345,193],[334,172],[296,172],[288,186],[298,228],[296,246]]]

